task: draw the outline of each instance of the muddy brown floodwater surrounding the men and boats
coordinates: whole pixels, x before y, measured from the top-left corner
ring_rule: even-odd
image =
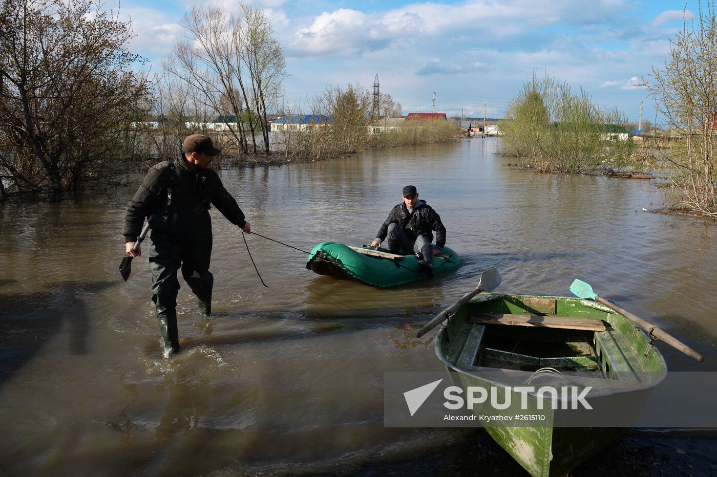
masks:
[[[383,423],[384,372],[442,369],[435,332],[417,339],[417,326],[490,267],[503,292],[569,295],[583,279],[705,357],[658,344],[670,370],[717,370],[716,223],[651,213],[649,180],[513,170],[496,141],[219,171],[252,229],[303,250],[369,243],[414,184],[464,265],[378,289],[247,236],[265,288],[213,209],[214,317],[181,281],[171,360],[146,255],[128,282],[118,273],[141,175],[109,196],[0,205],[0,474],[521,476],[482,430]],[[716,473],[716,442],[633,430],[574,476]]]

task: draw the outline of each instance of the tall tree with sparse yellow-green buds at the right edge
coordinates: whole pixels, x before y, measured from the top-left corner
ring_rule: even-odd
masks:
[[[683,140],[663,154],[681,203],[693,213],[717,216],[717,21],[714,1],[702,4],[699,18],[684,20],[670,40],[664,69],[652,68],[653,82],[643,82],[666,118],[666,127]]]

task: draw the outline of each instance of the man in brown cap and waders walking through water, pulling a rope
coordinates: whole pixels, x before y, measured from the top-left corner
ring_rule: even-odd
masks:
[[[179,352],[176,297],[180,268],[196,295],[199,312],[206,316],[212,314],[211,205],[242,231],[252,231],[237,201],[222,186],[219,175],[207,169],[222,150],[214,148],[212,139],[201,134],[188,136],[183,146],[184,153],[177,160],[158,163],[149,170],[127,207],[122,231],[127,253],[133,257],[141,255],[141,249],[135,253],[132,247],[144,219],[152,218],[149,234],[152,301],[162,334],[164,357]]]

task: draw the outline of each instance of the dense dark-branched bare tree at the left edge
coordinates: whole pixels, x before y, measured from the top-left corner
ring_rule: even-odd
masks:
[[[148,107],[131,36],[91,1],[0,1],[0,175],[16,191],[77,191],[113,174]]]

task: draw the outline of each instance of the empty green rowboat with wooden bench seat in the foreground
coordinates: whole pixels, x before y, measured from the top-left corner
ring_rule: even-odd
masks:
[[[497,386],[513,392],[513,403],[520,395],[506,387],[508,378],[495,380],[496,372],[579,372],[605,399],[630,393],[633,405],[644,402],[667,372],[643,332],[604,305],[579,298],[478,294],[442,327],[435,350],[455,384]],[[539,412],[546,418],[536,427],[485,427],[533,476],[569,473],[630,427],[559,427],[561,410]]]

